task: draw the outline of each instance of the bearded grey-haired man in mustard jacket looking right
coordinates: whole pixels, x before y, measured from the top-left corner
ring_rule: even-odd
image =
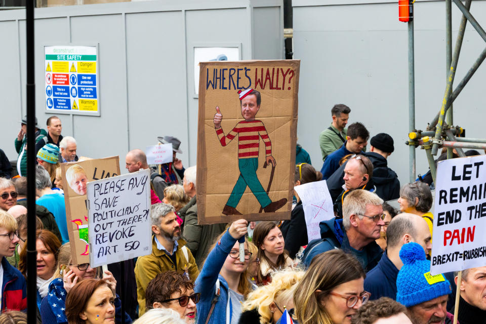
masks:
[[[145,290],[158,273],[178,271],[191,280],[199,274],[192,253],[180,238],[181,227],[177,223],[174,207],[164,203],[151,207],[152,253],[138,258],[135,265],[139,315],[145,313]]]

